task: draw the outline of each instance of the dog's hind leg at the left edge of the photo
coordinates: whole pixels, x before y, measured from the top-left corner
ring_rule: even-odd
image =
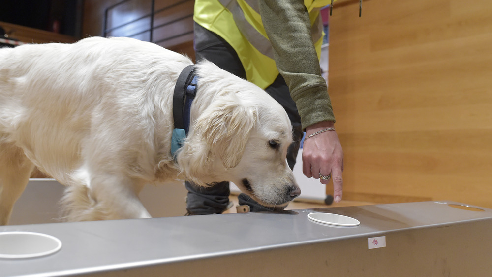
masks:
[[[29,182],[34,165],[20,148],[0,144],[0,225],[6,225],[12,208]]]

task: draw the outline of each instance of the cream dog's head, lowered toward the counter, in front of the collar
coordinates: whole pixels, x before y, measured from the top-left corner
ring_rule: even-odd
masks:
[[[286,161],[292,126],[282,106],[215,65],[200,64],[198,74],[190,133],[178,155],[186,178],[200,185],[232,181],[264,206],[299,196]]]

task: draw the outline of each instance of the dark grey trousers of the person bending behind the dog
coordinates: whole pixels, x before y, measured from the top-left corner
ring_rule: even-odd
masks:
[[[197,62],[203,59],[209,60],[219,68],[246,79],[245,69],[236,51],[220,36],[195,23],[194,44]],[[280,74],[265,91],[284,107],[292,122],[294,142],[287,151],[287,162],[292,169],[296,163],[297,152],[303,137],[301,118],[297,112],[295,102],[290,97],[289,88]],[[185,186],[188,190],[186,209],[189,214],[222,213],[229,204],[229,182],[216,183],[208,188],[189,182],[185,182]],[[273,210],[272,208],[261,206],[244,193],[240,194],[238,198],[239,204],[249,205],[250,211]]]

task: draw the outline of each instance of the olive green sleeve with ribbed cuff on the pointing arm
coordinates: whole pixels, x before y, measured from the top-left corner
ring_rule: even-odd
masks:
[[[321,121],[335,122],[304,1],[259,0],[258,4],[278,71],[296,102],[303,130]]]

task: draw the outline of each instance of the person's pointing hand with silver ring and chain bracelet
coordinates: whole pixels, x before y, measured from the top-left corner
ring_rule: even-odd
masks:
[[[323,121],[306,128],[306,138],[318,131],[335,128],[332,121]],[[329,179],[322,176],[331,176],[333,179],[333,197],[339,202],[343,189],[343,150],[336,131],[326,131],[307,138],[303,146],[303,173],[306,177],[320,179],[322,184],[328,184]]]

